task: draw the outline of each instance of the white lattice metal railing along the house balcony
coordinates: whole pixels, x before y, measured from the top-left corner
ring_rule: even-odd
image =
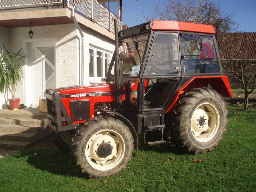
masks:
[[[75,12],[96,22],[100,26],[114,33],[114,20],[118,19],[118,31],[122,29],[122,21],[110,12],[97,0],[70,0],[71,7]],[[0,0],[0,11],[12,9],[31,9],[31,8],[63,8],[66,7],[66,0]]]

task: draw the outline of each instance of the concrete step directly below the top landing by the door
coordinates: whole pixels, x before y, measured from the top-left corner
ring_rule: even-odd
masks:
[[[43,126],[44,121],[47,119],[31,119],[31,118],[19,118],[19,117],[2,117],[0,118],[1,124],[16,124],[16,125],[33,125]]]

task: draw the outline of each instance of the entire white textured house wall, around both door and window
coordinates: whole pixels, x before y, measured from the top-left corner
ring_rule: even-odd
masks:
[[[81,75],[84,75],[84,83],[89,84],[89,46],[106,50],[111,54],[115,49],[114,41],[101,36],[86,27],[81,27],[84,34],[84,71],[81,70],[81,36],[75,24],[60,24],[49,26],[34,26],[33,38],[30,39],[28,31],[30,27],[5,28],[0,27],[0,43],[10,44],[12,49],[23,49],[28,54],[29,43],[55,42],[55,65],[56,65],[56,87],[79,85]],[[8,35],[9,34],[9,35]],[[1,47],[1,46],[0,46]],[[28,61],[29,58],[26,59]],[[24,73],[28,70],[28,63],[24,65]],[[24,78],[26,80],[26,77]],[[20,98],[20,103],[25,101],[26,89],[23,79],[22,85],[17,87],[16,98]],[[8,98],[11,98],[9,94]],[[3,95],[0,95],[0,107],[5,103]],[[26,105],[29,105],[28,103]]]

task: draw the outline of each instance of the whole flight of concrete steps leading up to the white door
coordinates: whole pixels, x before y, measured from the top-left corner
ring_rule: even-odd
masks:
[[[38,108],[0,110],[0,149],[24,150],[47,134],[46,114]]]

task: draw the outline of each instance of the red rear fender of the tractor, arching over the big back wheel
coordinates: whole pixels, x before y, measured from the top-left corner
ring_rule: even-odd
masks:
[[[210,85],[212,89],[220,93],[223,97],[232,97],[231,88],[228,82],[228,76],[209,76],[209,77],[193,77],[181,86],[175,93],[172,102],[169,104],[165,113],[171,110],[171,108],[176,104],[181,94],[197,87],[207,87]]]

